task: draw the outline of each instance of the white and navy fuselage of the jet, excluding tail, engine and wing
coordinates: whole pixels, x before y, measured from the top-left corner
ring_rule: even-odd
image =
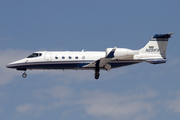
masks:
[[[107,52],[107,51],[106,51]],[[38,51],[31,56],[15,61],[7,65],[8,68],[16,68],[17,70],[27,69],[76,69],[88,70],[94,67],[83,67],[93,61],[106,56],[106,52],[101,51]],[[109,64],[111,68],[131,65],[142,61],[132,59],[118,59],[114,57]],[[100,67],[103,69],[103,67]]]

